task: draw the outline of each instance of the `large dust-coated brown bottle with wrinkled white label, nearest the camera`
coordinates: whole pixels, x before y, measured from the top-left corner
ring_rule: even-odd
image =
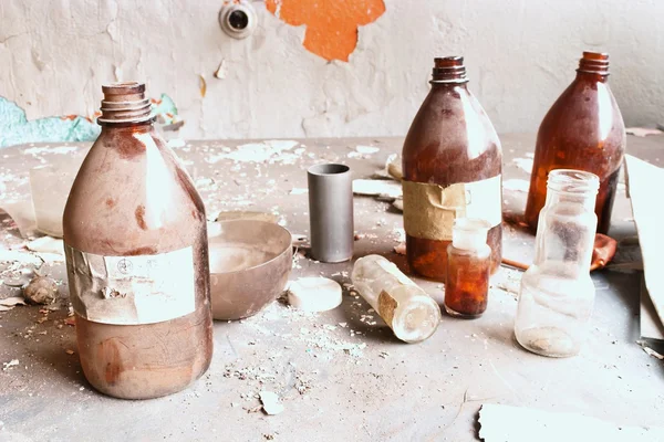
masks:
[[[210,364],[205,208],[153,128],[145,85],[102,90],[102,133],[63,218],[79,354],[101,392],[156,398]]]

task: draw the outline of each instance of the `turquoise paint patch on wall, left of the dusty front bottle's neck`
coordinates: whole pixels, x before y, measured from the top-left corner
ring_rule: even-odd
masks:
[[[98,135],[100,127],[81,116],[29,122],[25,110],[0,97],[0,147],[22,143],[92,141]]]

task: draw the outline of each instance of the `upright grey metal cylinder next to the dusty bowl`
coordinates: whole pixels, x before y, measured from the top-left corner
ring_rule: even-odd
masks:
[[[311,256],[336,263],[353,257],[353,180],[344,165],[317,165],[307,171]]]

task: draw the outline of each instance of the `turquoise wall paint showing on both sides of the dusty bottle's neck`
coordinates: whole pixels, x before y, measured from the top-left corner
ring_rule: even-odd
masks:
[[[157,124],[165,130],[177,130],[184,124],[178,120],[177,107],[168,95],[153,98],[152,104]],[[0,97],[0,147],[25,143],[94,141],[100,131],[95,120],[79,115],[28,120],[25,110]]]

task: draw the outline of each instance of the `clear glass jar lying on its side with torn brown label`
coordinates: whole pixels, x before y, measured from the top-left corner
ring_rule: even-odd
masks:
[[[380,255],[361,257],[351,278],[360,295],[401,340],[418,343],[436,332],[440,307],[393,262]]]

